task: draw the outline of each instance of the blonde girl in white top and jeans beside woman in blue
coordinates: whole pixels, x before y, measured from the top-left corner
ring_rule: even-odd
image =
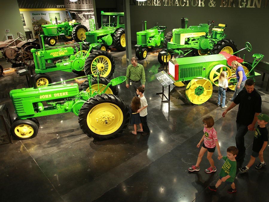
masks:
[[[221,108],[227,108],[227,105],[225,105],[227,88],[228,88],[227,73],[223,71],[220,73],[218,78],[218,106],[220,106],[220,100],[222,95]]]

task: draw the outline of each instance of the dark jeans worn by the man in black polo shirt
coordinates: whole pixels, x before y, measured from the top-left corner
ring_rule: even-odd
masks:
[[[247,133],[248,129],[247,126],[236,122],[236,130],[236,147],[238,149],[237,157],[241,158],[243,157],[246,150],[244,136]]]

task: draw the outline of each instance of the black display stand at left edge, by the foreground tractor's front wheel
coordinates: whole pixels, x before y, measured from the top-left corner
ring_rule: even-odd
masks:
[[[0,128],[3,130],[3,134],[0,135],[0,145],[12,143],[12,136],[10,134],[11,119],[8,109],[5,104],[0,105]],[[5,139],[8,139],[8,142]]]

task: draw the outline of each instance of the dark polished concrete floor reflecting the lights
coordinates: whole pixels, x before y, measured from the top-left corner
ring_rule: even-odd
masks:
[[[125,75],[125,53],[111,54],[116,62],[114,77]],[[4,60],[0,63],[10,67]],[[199,172],[188,171],[197,160],[196,145],[203,135],[205,116],[213,116],[215,120],[223,155],[227,147],[235,145],[237,107],[222,118],[223,109],[216,105],[216,86],[212,97],[202,105],[189,103],[184,87],[172,87],[170,102],[162,102],[156,95],[162,87],[154,76],[162,68],[157,54],[150,54],[139,63],[146,72],[148,136],[133,135],[133,126],[129,125],[116,139],[95,141],[83,134],[73,113],[39,117],[40,128],[35,138],[13,139],[13,144],[0,146],[0,201],[267,201],[269,148],[264,152],[268,162],[265,168],[256,170],[253,166],[248,174],[237,174],[234,194],[227,193],[230,187],[224,183],[217,192],[208,189],[218,180],[224,163],[217,160],[216,152],[213,155],[216,173],[204,172],[209,167],[206,157]],[[53,81],[76,76],[68,72],[48,74]],[[266,83],[261,76],[256,80],[262,112],[269,114]],[[26,87],[26,79],[10,73],[0,77],[0,86],[0,102],[9,107],[14,119],[9,92]],[[232,95],[227,93],[227,99]],[[125,84],[120,85],[120,97],[126,103],[131,101]],[[238,167],[249,161],[252,141],[253,132],[249,131],[245,136],[246,157],[238,162]]]

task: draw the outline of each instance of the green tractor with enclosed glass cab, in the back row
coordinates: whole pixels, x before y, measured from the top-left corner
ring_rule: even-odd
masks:
[[[85,33],[87,44],[97,44],[97,49],[106,51],[114,44],[118,51],[125,51],[124,13],[101,13],[102,27]],[[76,40],[80,42],[80,40]]]

